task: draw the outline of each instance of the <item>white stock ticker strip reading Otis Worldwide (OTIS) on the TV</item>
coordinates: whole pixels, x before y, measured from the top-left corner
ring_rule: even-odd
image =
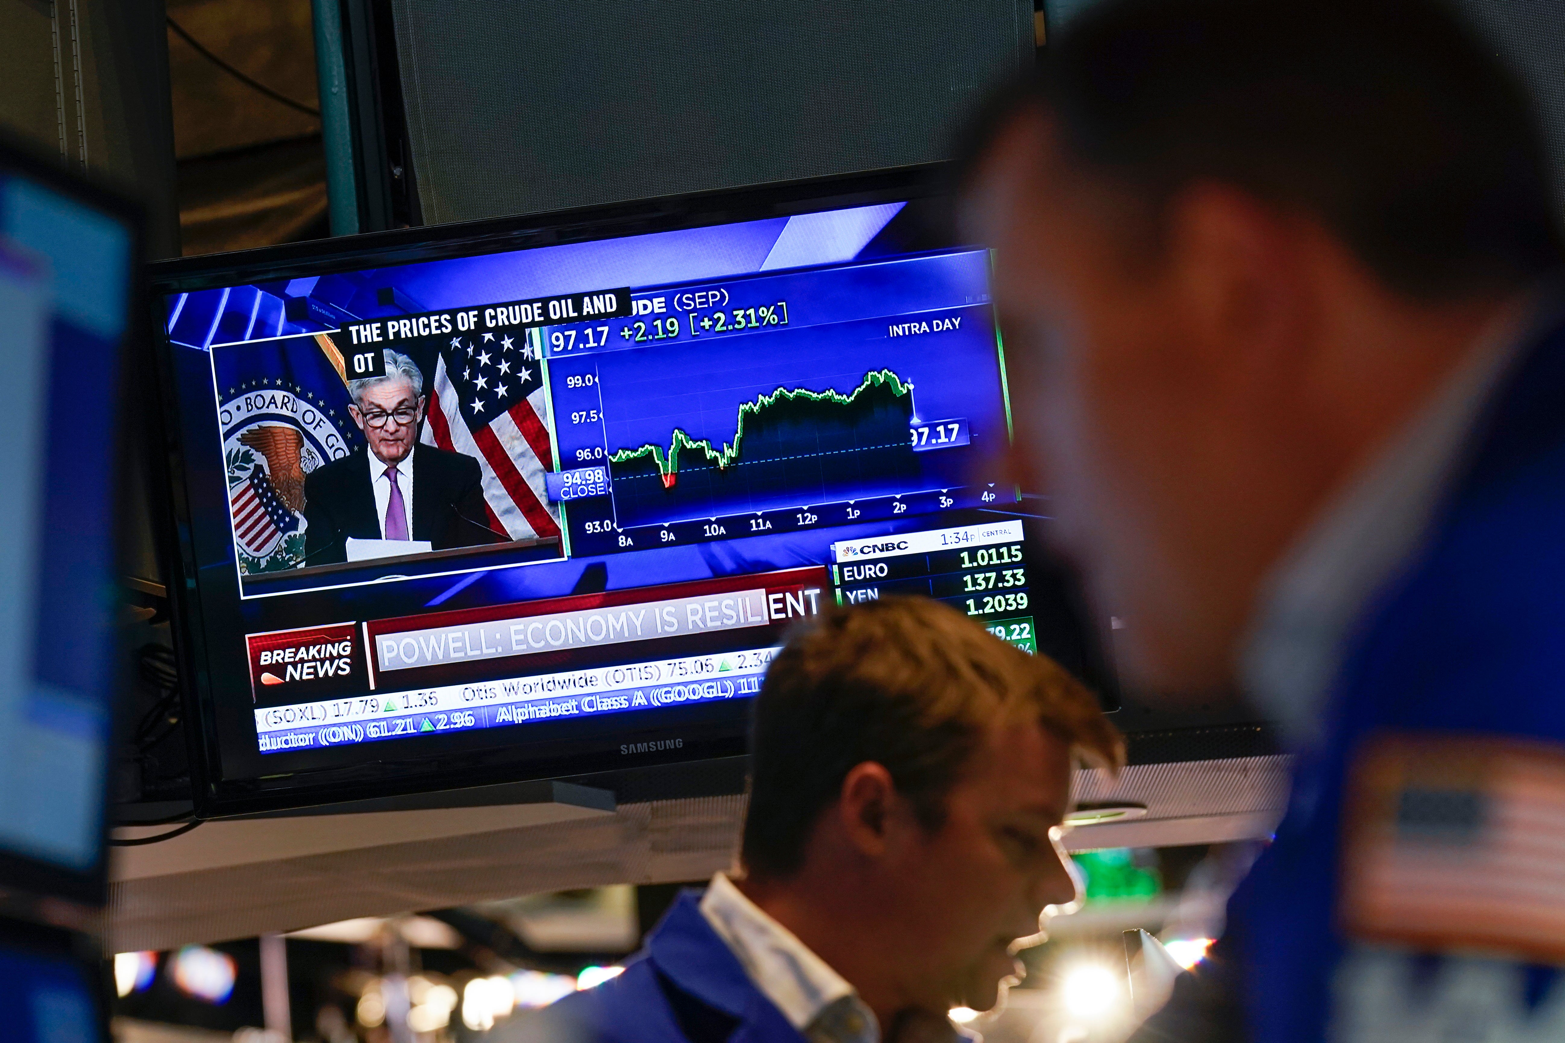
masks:
[[[470,685],[440,685],[413,691],[369,693],[347,699],[322,699],[319,702],[296,702],[286,707],[266,707],[255,711],[255,730],[290,732],[319,724],[346,721],[372,721],[407,713],[443,713],[495,707],[538,699],[568,696],[592,696],[624,688],[685,683],[754,674],[781,651],[781,646],[745,649],[740,652],[714,652],[711,655],[685,655],[673,660],[651,660],[623,666],[593,666],[557,674],[537,674],[512,680],[482,680]],[[723,663],[728,669],[723,669]],[[387,708],[390,704],[390,708]]]

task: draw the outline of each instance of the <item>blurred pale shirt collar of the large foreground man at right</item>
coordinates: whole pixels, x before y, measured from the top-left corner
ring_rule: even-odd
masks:
[[[1333,499],[1261,586],[1239,677],[1293,744],[1319,737],[1346,643],[1427,538],[1473,427],[1529,335],[1559,302],[1506,308],[1415,419]]]

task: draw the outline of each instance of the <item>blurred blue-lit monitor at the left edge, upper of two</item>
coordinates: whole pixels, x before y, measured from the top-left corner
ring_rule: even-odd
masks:
[[[103,888],[136,228],[0,149],[0,887],[85,901]]]

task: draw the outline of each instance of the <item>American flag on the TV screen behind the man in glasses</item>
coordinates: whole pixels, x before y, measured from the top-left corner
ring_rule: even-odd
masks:
[[[526,335],[473,333],[441,346],[421,441],[479,461],[490,527],[512,539],[560,535],[543,488],[554,466],[546,413],[538,350]]]

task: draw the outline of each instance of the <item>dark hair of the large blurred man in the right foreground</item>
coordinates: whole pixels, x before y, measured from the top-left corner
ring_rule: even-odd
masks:
[[[966,170],[1027,106],[1153,235],[1213,180],[1308,213],[1415,299],[1565,258],[1529,97],[1437,0],[1102,0],[975,120]]]

